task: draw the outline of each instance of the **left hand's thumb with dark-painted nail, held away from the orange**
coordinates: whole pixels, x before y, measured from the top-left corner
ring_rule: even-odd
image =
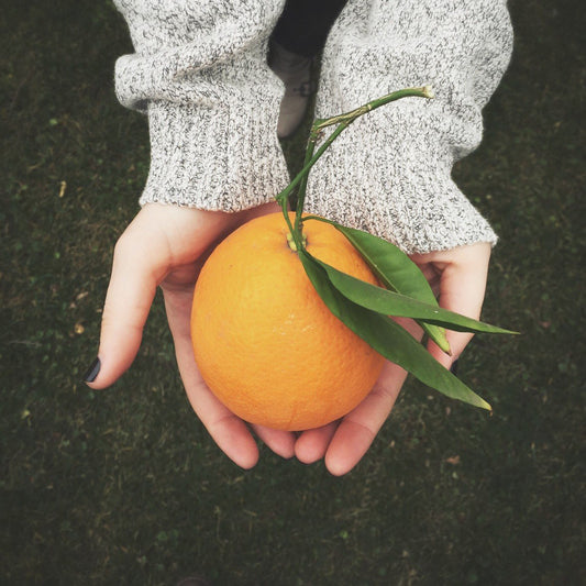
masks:
[[[91,388],[112,385],[139,352],[157,283],[168,264],[168,248],[158,240],[156,232],[145,233],[131,223],[115,245],[98,357],[84,378]]]

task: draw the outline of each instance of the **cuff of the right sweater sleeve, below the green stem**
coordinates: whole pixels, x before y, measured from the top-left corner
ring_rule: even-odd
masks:
[[[451,178],[456,157],[441,133],[431,132],[436,121],[427,119],[421,100],[402,102],[357,120],[336,139],[313,167],[306,209],[408,254],[496,244],[488,222]]]

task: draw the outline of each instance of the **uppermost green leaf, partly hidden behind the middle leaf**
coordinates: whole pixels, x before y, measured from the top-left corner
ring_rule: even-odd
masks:
[[[310,215],[308,219],[324,221],[314,215]],[[439,307],[423,273],[398,246],[368,232],[346,228],[330,220],[325,220],[325,222],[332,224],[346,236],[388,289]],[[444,352],[450,353],[450,344],[443,328],[424,322],[420,325]]]

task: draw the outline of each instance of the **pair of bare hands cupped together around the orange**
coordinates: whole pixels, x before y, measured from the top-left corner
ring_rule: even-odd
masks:
[[[253,467],[258,460],[258,449],[252,430],[285,458],[296,456],[308,464],[324,458],[331,474],[343,475],[360,462],[389,416],[407,376],[402,368],[387,362],[372,392],[342,420],[292,433],[242,421],[206,386],[194,360],[191,301],[207,255],[239,225],[278,210],[276,203],[230,214],[146,204],[115,246],[98,352],[101,365],[88,385],[95,389],[106,388],[130,367],[159,286],[189,402],[220,449],[239,466]],[[411,256],[439,295],[442,307],[476,319],[484,300],[489,257],[488,243]],[[421,335],[412,321],[403,320],[401,324],[413,335]],[[449,331],[451,356],[433,343],[428,347],[450,368],[471,338],[472,334]]]

